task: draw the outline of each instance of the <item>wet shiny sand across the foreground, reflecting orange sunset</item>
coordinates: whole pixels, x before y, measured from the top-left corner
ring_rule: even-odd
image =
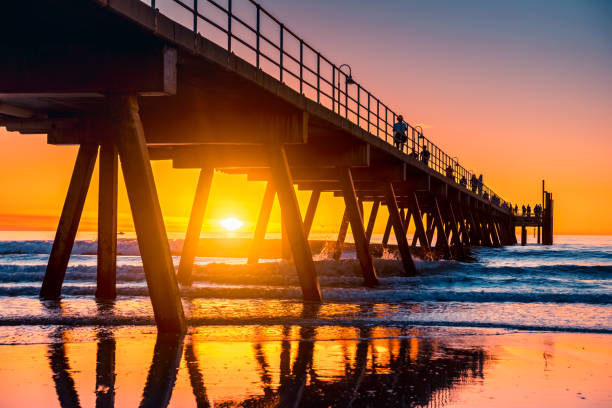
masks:
[[[610,407],[612,335],[452,327],[0,328],[0,407]],[[24,340],[27,339],[27,340]]]

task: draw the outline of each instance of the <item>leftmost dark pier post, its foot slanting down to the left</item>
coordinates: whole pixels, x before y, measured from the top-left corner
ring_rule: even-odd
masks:
[[[66,268],[79,228],[81,213],[83,212],[83,205],[85,204],[85,197],[87,196],[97,155],[97,145],[81,145],[79,147],[66,201],[64,201],[64,208],[49,255],[49,263],[40,288],[40,297],[44,299],[59,299],[61,295]]]

